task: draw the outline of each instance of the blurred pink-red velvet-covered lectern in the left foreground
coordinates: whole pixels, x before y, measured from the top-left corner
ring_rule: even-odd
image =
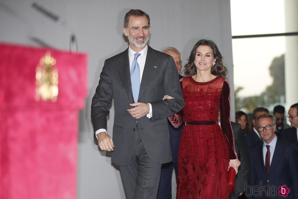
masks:
[[[36,101],[35,69],[56,59],[56,102]],[[0,198],[75,199],[87,56],[0,43]]]

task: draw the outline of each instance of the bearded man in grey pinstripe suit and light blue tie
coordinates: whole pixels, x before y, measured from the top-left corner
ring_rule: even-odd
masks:
[[[175,62],[170,55],[147,45],[150,30],[150,19],[145,12],[126,13],[123,33],[128,37],[129,47],[104,62],[91,105],[99,147],[113,151],[111,159],[120,166],[128,199],[156,199],[161,164],[172,159],[167,117],[184,107]],[[141,55],[136,57],[137,53]],[[135,62],[140,77],[137,101],[130,74]],[[174,99],[163,100],[164,95]],[[112,96],[113,139],[107,134]]]

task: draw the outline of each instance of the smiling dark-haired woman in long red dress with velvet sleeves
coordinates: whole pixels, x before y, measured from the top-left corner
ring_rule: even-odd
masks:
[[[227,68],[211,40],[198,41],[180,80],[185,107],[169,117],[173,126],[184,121],[178,152],[177,199],[228,199],[230,166],[240,165],[230,123]],[[164,99],[170,99],[165,96]],[[217,124],[220,111],[221,126]]]

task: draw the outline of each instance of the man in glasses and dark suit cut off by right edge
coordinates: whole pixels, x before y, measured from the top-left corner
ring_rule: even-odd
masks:
[[[295,144],[298,148],[298,103],[290,107],[287,117],[292,127],[282,131],[282,138]]]

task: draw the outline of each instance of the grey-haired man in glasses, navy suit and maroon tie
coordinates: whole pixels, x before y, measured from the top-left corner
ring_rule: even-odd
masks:
[[[259,187],[259,192],[254,192],[252,198],[283,198],[279,195],[279,187],[283,185],[290,190],[286,196],[288,199],[298,198],[298,152],[295,145],[275,136],[273,115],[261,114],[256,124],[263,141],[251,147],[251,187],[254,190],[255,186]]]

